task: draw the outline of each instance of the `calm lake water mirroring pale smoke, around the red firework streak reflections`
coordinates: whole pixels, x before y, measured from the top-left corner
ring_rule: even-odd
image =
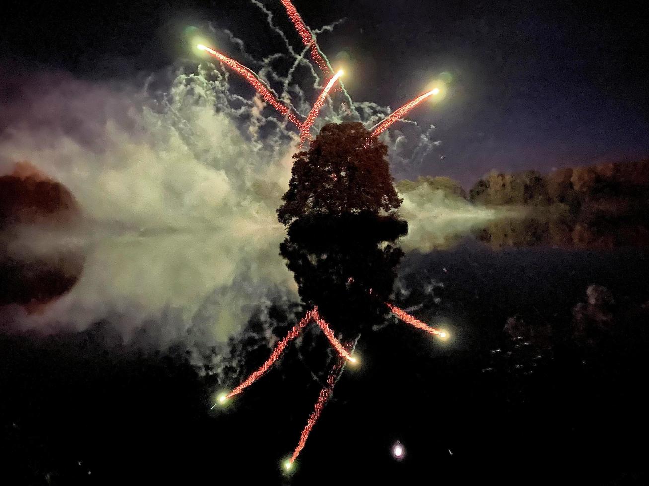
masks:
[[[412,225],[398,248],[389,224],[317,224],[283,242],[262,229],[53,237],[67,256],[38,305],[26,302],[42,265],[7,257],[3,470],[16,484],[646,480],[646,248],[479,222],[430,238]],[[387,316],[386,300],[452,338]],[[317,327],[209,408],[313,305],[345,340],[360,336],[361,366],[282,476],[336,359]]]

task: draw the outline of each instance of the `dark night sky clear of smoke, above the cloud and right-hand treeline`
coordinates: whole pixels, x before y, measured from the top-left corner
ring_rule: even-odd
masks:
[[[279,1],[263,1],[298,47]],[[261,56],[284,51],[248,0],[24,1],[3,13],[0,60],[132,78],[188,59],[182,31],[210,21]],[[465,186],[491,168],[520,170],[649,155],[648,6],[642,1],[295,0],[335,59],[346,51],[355,100],[397,108],[435,76],[450,96],[412,118],[434,123],[441,148],[419,173]],[[9,15],[6,15],[9,14]],[[236,56],[236,52],[232,52]],[[440,156],[443,155],[444,158]]]

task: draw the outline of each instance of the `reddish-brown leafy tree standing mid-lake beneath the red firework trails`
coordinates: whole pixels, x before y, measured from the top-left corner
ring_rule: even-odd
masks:
[[[293,158],[293,176],[277,210],[282,224],[307,214],[389,213],[401,205],[387,146],[360,123],[325,125],[308,152]]]

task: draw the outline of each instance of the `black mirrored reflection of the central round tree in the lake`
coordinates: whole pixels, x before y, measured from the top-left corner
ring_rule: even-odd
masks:
[[[306,306],[317,306],[334,330],[352,337],[384,318],[403,256],[389,242],[406,229],[406,222],[389,217],[320,216],[294,222],[280,253]]]

